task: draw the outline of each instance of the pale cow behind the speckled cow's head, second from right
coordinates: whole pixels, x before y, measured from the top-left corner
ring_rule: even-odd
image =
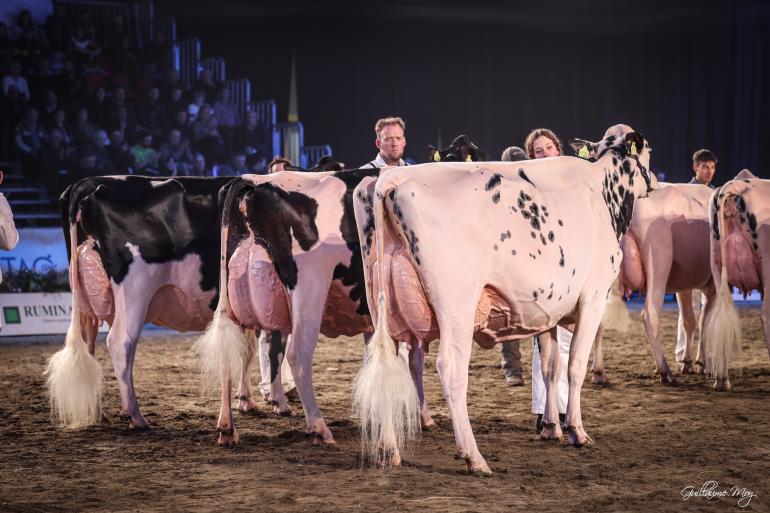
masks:
[[[684,327],[682,372],[693,372],[691,345],[696,319],[692,291],[700,290],[706,295],[706,309],[715,294],[709,263],[708,202],[712,191],[705,185],[659,185],[649,197],[634,204],[631,225],[621,242],[623,262],[618,287],[626,296],[633,291],[645,291],[642,318],[660,382],[675,384],[661,347],[660,313],[664,295],[675,292]],[[702,342],[701,339],[695,362],[701,369],[705,362]],[[594,383],[606,380],[601,344],[600,330],[594,344]]]

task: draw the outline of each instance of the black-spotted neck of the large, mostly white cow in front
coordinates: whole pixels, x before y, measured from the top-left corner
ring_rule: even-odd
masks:
[[[634,214],[634,180],[644,176],[644,165],[636,155],[611,150],[595,163],[602,169],[602,198],[610,214],[615,238],[620,239],[631,225]]]

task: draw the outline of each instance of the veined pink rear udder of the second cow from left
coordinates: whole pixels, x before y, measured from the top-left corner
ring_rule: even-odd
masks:
[[[288,295],[265,248],[243,240],[228,264],[230,308],[236,320],[254,329],[291,331]]]

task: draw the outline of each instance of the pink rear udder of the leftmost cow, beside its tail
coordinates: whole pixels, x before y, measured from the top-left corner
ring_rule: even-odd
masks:
[[[80,311],[100,321],[111,322],[115,315],[115,303],[110,279],[104,270],[102,258],[93,249],[91,239],[78,246],[76,258],[81,291],[76,300]]]

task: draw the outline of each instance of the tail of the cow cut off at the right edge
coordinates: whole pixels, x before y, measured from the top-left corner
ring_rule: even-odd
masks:
[[[725,258],[725,204],[731,196],[723,186],[714,191],[709,202],[712,222],[711,230],[711,274],[714,278],[716,296],[713,305],[707,305],[703,319],[703,338],[706,347],[706,367],[715,377],[716,390],[730,390],[729,367],[741,349],[741,324],[738,310],[733,303],[732,289],[727,282],[727,261]],[[713,223],[717,226],[713,226]],[[717,230],[715,232],[715,229]],[[717,266],[716,252],[722,263]]]

